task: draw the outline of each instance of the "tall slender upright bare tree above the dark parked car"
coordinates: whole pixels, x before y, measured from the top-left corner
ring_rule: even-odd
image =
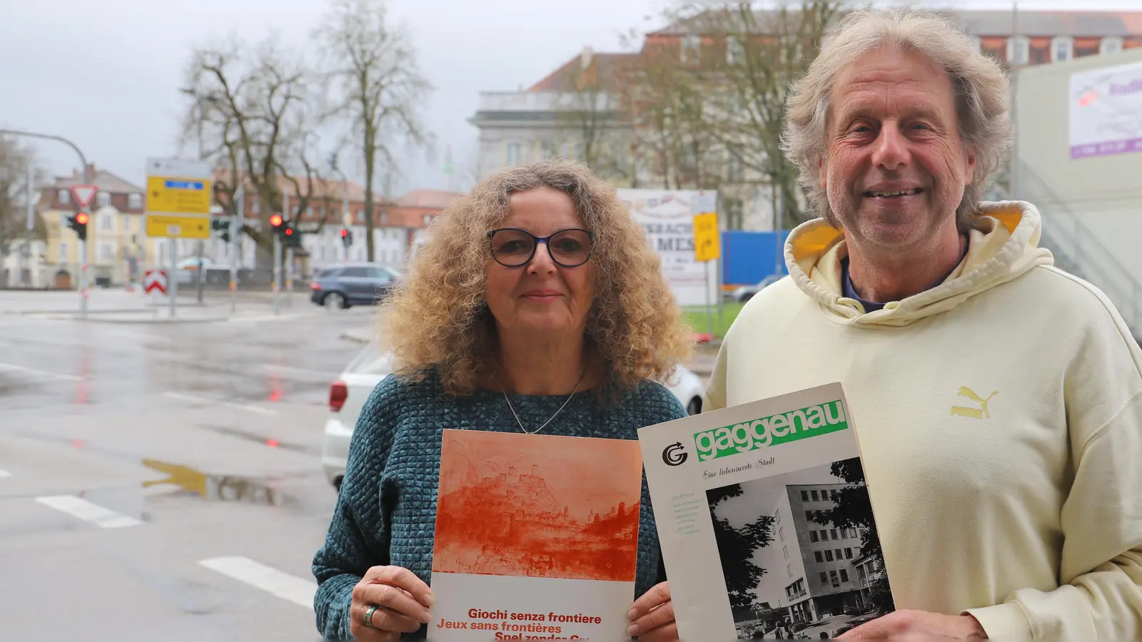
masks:
[[[372,179],[377,160],[380,157],[385,163],[392,185],[396,144],[432,145],[432,136],[418,118],[432,86],[417,66],[408,32],[388,24],[384,0],[332,0],[314,38],[325,56],[327,81],[339,98],[330,115],[346,119],[360,142],[365,248],[369,260],[375,260]]]

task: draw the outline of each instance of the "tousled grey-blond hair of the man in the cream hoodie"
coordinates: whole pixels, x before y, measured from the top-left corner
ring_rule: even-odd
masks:
[[[955,23],[914,8],[864,9],[846,15],[829,31],[828,45],[790,87],[781,149],[798,170],[813,210],[839,226],[821,188],[818,160],[826,157],[830,93],[837,75],[871,49],[911,50],[930,58],[951,79],[959,137],[975,152],[975,172],[956,210],[960,230],[974,227],[979,202],[1012,142],[1007,77],[979,51]]]

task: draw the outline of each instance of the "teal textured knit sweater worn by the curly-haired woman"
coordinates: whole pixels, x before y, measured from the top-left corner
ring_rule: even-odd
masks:
[[[512,396],[520,420],[534,430],[566,395]],[[580,392],[542,434],[638,439],[637,430],[686,415],[665,386],[646,382],[606,406]],[[325,543],[313,560],[317,631],[327,640],[351,639],[353,587],[370,567],[404,567],[428,583],[436,523],[436,485],[443,428],[518,432],[501,393],[448,396],[439,378],[381,382],[361,410],[349,446],[345,480]],[[665,579],[650,493],[643,476],[635,595]],[[423,639],[426,627],[407,637]]]

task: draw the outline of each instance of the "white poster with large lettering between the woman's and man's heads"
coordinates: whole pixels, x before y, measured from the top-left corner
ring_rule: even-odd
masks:
[[[618,190],[619,200],[646,230],[651,247],[662,258],[662,274],[678,305],[714,305],[721,263],[694,259],[695,214],[714,211],[717,192],[710,190]]]

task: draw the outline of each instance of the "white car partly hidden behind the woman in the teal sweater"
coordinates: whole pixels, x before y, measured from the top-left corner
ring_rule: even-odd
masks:
[[[356,426],[357,416],[369,394],[392,372],[388,359],[380,354],[376,344],[369,344],[349,361],[340,378],[329,386],[329,419],[321,440],[321,467],[329,483],[340,490],[345,476],[345,464],[349,454],[349,440]],[[686,411],[697,415],[702,411],[705,391],[697,375],[678,366],[667,387]]]

